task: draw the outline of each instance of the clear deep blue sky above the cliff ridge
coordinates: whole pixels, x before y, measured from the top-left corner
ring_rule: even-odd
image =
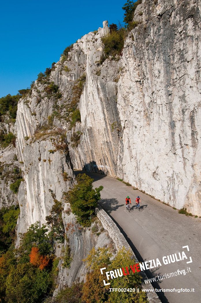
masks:
[[[81,36],[123,22],[126,0],[19,0],[0,4],[0,97],[27,88]]]

